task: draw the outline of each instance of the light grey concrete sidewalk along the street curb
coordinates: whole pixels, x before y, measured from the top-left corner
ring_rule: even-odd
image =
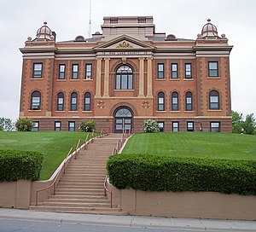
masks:
[[[143,216],[106,216],[61,212],[33,212],[0,208],[0,218],[80,223],[131,228],[197,229],[201,231],[256,231],[256,221],[189,219]]]

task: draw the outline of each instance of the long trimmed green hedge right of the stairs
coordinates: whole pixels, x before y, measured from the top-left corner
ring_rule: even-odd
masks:
[[[117,154],[108,159],[107,170],[119,189],[256,194],[255,161]]]

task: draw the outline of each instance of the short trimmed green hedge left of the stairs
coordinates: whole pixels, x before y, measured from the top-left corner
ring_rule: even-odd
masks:
[[[43,154],[35,151],[0,150],[0,181],[38,180]]]

